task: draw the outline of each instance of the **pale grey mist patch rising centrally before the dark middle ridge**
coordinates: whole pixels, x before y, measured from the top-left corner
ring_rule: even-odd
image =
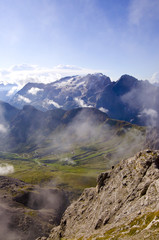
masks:
[[[95,114],[83,109],[60,132],[55,133],[52,146],[59,151],[70,151],[76,145],[91,144],[103,136],[103,130],[109,131],[106,125],[101,127],[99,124]]]

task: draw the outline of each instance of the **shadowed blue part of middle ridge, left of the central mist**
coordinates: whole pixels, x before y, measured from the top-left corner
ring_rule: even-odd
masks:
[[[94,108],[77,108],[70,111],[54,109],[43,112],[31,105],[25,105],[19,110],[8,103],[0,102],[0,149],[15,150],[28,144],[30,148],[36,147],[55,130],[57,133],[62,132],[77,119],[77,116],[78,124],[80,121],[81,124],[88,121],[88,118],[96,121],[94,124],[103,123],[108,118],[107,114]]]

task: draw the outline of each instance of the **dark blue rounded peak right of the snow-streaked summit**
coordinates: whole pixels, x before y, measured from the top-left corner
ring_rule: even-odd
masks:
[[[148,81],[123,75],[104,89],[96,107],[107,108],[112,118],[156,126],[159,113],[158,96],[158,87]]]

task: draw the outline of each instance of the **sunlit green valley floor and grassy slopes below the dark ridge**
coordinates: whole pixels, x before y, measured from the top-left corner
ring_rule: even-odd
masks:
[[[145,143],[145,128],[127,122],[107,119],[93,128],[100,134],[92,133],[91,138],[81,140],[74,132],[68,140],[68,130],[63,127],[33,151],[31,145],[26,145],[17,153],[1,152],[0,163],[14,166],[10,174],[13,178],[43,186],[51,184],[78,196],[84,188],[95,186],[99,173],[132,156]]]

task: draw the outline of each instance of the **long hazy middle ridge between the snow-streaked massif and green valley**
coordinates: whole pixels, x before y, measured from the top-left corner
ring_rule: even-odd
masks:
[[[122,138],[134,129],[137,135],[145,131],[128,122],[113,120],[95,108],[42,112],[31,105],[19,110],[0,102],[0,109],[0,150],[7,152],[32,152],[39,148],[61,152],[81,142],[105,141],[114,134]]]

